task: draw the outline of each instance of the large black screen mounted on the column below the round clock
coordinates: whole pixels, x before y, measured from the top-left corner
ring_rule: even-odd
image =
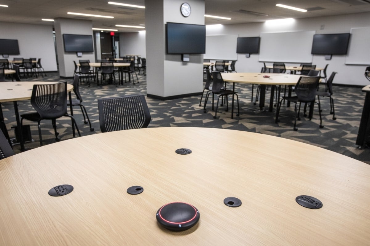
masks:
[[[204,54],[206,26],[167,22],[166,44],[169,54]]]

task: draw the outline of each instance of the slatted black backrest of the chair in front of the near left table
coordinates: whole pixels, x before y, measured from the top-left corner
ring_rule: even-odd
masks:
[[[34,84],[31,105],[41,119],[55,119],[67,114],[67,82]]]

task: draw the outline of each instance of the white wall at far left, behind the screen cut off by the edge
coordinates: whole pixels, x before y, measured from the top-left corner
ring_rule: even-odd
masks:
[[[9,55],[9,60],[41,58],[45,71],[57,71],[52,26],[0,22],[0,39],[18,39],[20,54]]]

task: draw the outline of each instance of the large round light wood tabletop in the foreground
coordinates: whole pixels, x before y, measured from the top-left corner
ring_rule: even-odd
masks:
[[[370,166],[275,136],[181,127],[108,132],[8,157],[0,170],[4,246],[370,242]],[[61,184],[74,190],[48,195]],[[129,195],[136,185],[144,191]],[[302,207],[299,195],[323,207]],[[228,207],[226,197],[242,205]],[[162,228],[155,215],[168,202],[194,205],[198,224]]]

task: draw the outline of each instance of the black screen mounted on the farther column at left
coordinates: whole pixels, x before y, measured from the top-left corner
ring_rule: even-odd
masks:
[[[91,35],[63,34],[65,52],[94,52]]]

